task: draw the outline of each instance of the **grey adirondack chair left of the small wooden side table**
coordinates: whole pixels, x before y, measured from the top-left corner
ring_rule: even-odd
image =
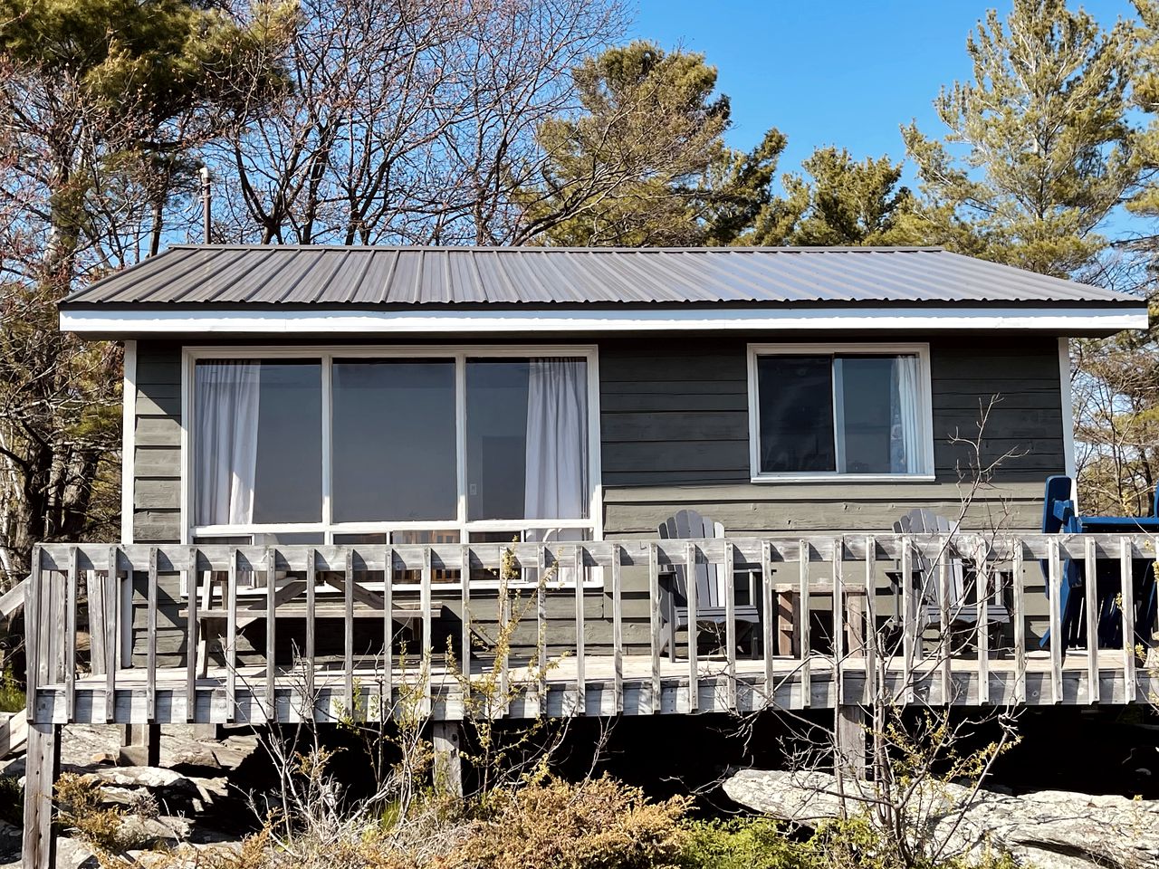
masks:
[[[659,526],[662,540],[715,540],[724,536],[724,526],[706,519],[695,510],[681,510]],[[724,569],[719,564],[697,564],[697,625],[710,625],[720,631],[726,627]],[[661,575],[659,587],[661,651],[668,649],[669,660],[676,660],[676,633],[688,625],[688,576],[684,565]],[[749,574],[749,601],[735,606],[737,625],[748,626],[752,655],[760,625],[757,607],[756,575]]]

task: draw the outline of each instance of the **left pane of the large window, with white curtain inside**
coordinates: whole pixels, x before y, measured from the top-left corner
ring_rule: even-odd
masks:
[[[322,518],[318,363],[198,363],[192,438],[197,525]]]

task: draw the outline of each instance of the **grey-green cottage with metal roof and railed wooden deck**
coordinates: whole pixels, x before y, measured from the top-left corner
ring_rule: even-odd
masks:
[[[855,709],[881,630],[903,698],[1142,700],[1134,631],[1038,647],[1060,558],[1129,583],[1147,539],[1035,532],[1073,474],[1066,339],[1146,320],[933,248],[172,248],[60,307],[125,346],[123,532],[38,550],[31,751],[413,678],[454,720],[447,640],[488,664],[512,599],[511,716]]]

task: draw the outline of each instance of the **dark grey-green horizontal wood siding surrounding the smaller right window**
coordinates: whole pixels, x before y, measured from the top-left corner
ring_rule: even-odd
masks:
[[[1056,338],[931,339],[935,481],[853,484],[750,482],[749,341],[600,344],[607,539],[654,536],[681,507],[731,535],[883,533],[916,506],[957,518],[965,501],[967,527],[1038,530],[1043,481],[1065,468]],[[1028,582],[1041,583],[1037,574],[1028,569]],[[647,626],[648,577],[632,568],[622,577],[630,633]],[[1028,594],[1027,612],[1041,633],[1045,598]]]

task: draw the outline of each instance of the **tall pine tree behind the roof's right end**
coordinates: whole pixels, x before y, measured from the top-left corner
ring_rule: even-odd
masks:
[[[941,141],[903,129],[930,207],[926,235],[964,253],[1067,276],[1137,177],[1128,123],[1130,27],[1100,29],[1065,0],[1014,0],[967,41],[974,80],[935,101]]]

